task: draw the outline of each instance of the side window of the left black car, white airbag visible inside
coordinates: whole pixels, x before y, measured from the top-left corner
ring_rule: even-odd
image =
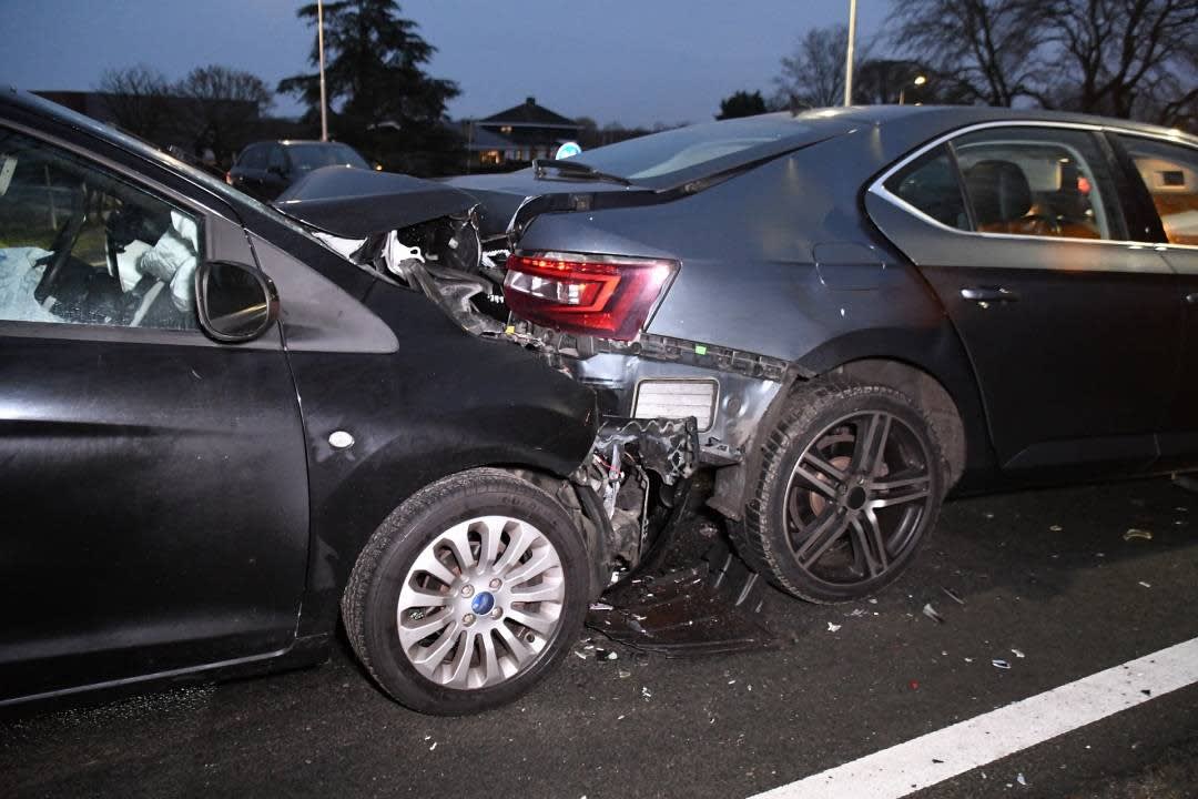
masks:
[[[0,321],[192,329],[198,219],[0,128]]]

